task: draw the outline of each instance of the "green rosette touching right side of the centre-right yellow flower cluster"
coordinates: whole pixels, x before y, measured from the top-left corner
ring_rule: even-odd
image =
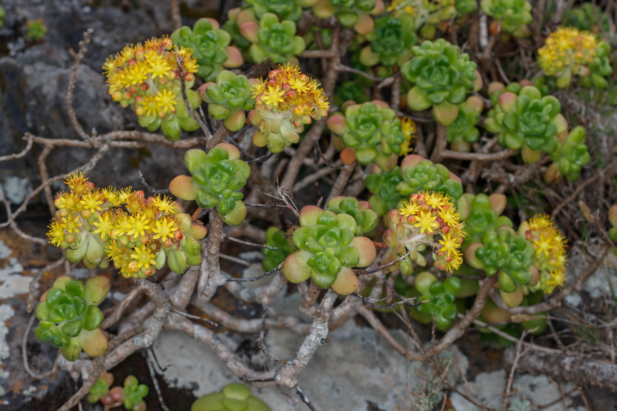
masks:
[[[481,242],[484,233],[488,230],[498,230],[501,226],[513,227],[512,221],[507,216],[500,216],[507,203],[505,195],[465,193],[462,198],[465,198],[469,205],[469,214],[463,219],[465,221],[464,249],[471,243]]]

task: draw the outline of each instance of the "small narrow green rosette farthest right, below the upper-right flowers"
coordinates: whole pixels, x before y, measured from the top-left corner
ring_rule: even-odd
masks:
[[[554,163],[545,173],[545,182],[558,181],[561,176],[568,181],[578,180],[582,166],[591,160],[585,144],[585,129],[582,126],[573,128],[549,157]]]

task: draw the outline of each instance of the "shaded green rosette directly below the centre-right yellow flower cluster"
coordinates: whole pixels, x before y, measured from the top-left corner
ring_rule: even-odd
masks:
[[[418,301],[427,301],[415,309],[421,314],[431,314],[437,330],[447,330],[457,319],[458,310],[454,300],[461,288],[458,277],[448,277],[441,282],[428,271],[416,275],[414,287],[420,292]]]

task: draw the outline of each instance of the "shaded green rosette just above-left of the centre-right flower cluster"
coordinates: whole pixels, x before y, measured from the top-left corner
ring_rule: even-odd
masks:
[[[400,201],[407,198],[396,190],[397,185],[403,181],[400,167],[396,166],[392,171],[383,171],[373,166],[373,173],[368,174],[364,183],[366,188],[373,193],[368,199],[371,210],[378,216],[384,216],[388,211],[398,207]]]

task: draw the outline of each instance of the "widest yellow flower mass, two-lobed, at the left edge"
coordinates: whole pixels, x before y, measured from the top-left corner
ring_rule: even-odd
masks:
[[[146,277],[156,272],[162,249],[183,237],[173,218],[181,206],[168,197],[145,198],[131,187],[98,189],[83,173],[68,176],[66,184],[70,192],[54,200],[58,211],[47,234],[53,245],[75,248],[91,236],[88,246],[101,246],[124,277]]]

